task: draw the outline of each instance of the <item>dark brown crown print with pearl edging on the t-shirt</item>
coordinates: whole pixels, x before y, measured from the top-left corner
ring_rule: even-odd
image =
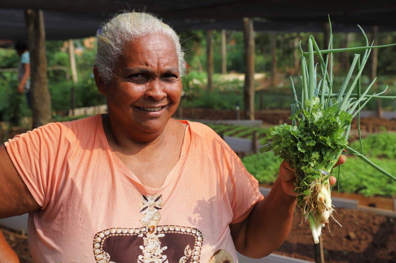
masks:
[[[142,195],[140,228],[110,228],[96,233],[97,263],[199,263],[203,236],[192,227],[159,225],[162,195]]]

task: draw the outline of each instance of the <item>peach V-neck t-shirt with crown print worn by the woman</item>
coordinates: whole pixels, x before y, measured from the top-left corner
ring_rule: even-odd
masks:
[[[51,123],[6,143],[42,207],[29,214],[35,262],[237,262],[228,227],[263,198],[210,128],[187,125],[160,188],[142,185],[107,143],[101,115]],[[161,158],[161,156],[152,156]]]

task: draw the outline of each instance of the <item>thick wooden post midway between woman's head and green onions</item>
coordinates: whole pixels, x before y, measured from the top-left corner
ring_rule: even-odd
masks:
[[[254,37],[253,19],[245,17],[244,42],[245,42],[245,86],[244,106],[246,117],[254,120]]]

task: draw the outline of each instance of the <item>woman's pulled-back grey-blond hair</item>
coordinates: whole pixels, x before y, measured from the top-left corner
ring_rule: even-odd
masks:
[[[115,15],[110,21],[103,23],[96,34],[96,67],[103,81],[111,81],[112,70],[114,70],[119,56],[122,55],[125,43],[158,33],[167,36],[175,45],[180,76],[183,76],[186,71],[186,64],[180,38],[176,32],[149,13],[132,11]]]

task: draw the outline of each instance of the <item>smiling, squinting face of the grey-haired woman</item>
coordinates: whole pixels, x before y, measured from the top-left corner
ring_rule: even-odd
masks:
[[[179,105],[182,82],[172,41],[144,36],[124,45],[109,83],[98,86],[107,96],[109,116],[124,130],[162,132]]]

